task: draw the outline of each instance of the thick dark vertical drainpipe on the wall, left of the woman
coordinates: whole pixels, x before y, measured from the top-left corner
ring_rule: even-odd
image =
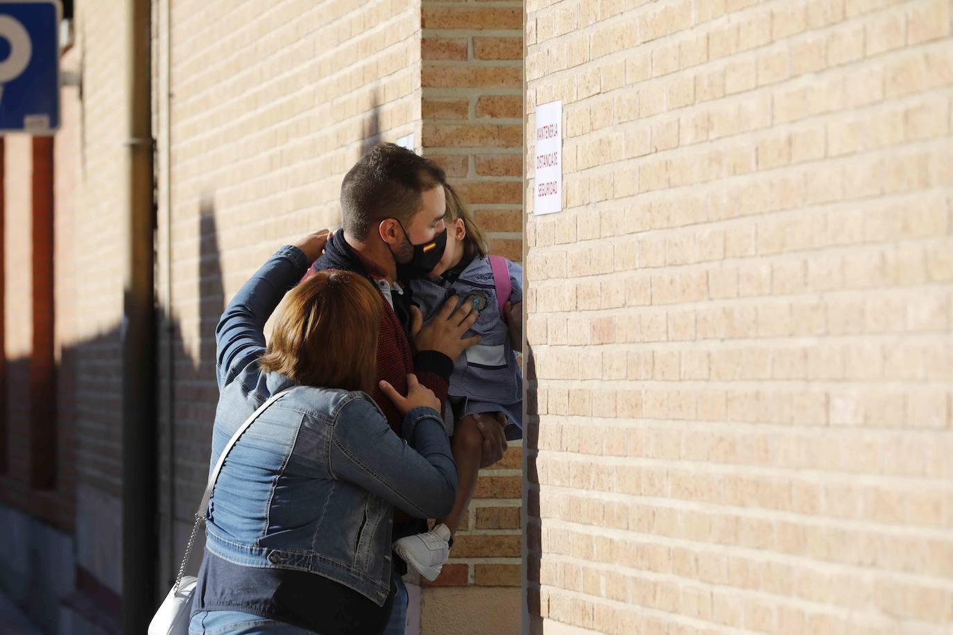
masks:
[[[126,2],[129,128],[122,338],[122,632],[156,608],[156,416],[150,0]]]

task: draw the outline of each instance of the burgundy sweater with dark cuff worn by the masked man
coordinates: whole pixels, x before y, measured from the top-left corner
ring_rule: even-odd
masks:
[[[374,274],[378,271],[375,271],[374,264],[360,258],[344,240],[343,231],[337,231],[331,237],[327,247],[324,248],[324,255],[318,258],[314,266],[308,270],[305,279],[325,269],[355,271],[367,277],[377,288]],[[383,275],[380,277],[382,278]],[[378,292],[380,292],[379,289]],[[403,295],[394,293],[393,300],[395,308],[391,308],[385,299],[380,313],[380,333],[377,336],[377,381],[384,380],[395,387],[397,392],[406,395],[407,375],[413,372],[416,374],[417,381],[434,391],[442,408],[447,398],[447,387],[450,375],[454,371],[454,362],[436,350],[421,350],[416,354],[413,353],[410,341],[407,339],[410,327],[410,288],[405,286]],[[376,383],[374,394],[371,396],[384,412],[394,431],[400,434],[400,413],[391,400],[380,391]]]

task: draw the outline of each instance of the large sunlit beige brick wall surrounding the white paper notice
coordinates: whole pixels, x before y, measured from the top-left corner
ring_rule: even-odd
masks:
[[[949,632],[950,3],[526,10],[534,632]]]

